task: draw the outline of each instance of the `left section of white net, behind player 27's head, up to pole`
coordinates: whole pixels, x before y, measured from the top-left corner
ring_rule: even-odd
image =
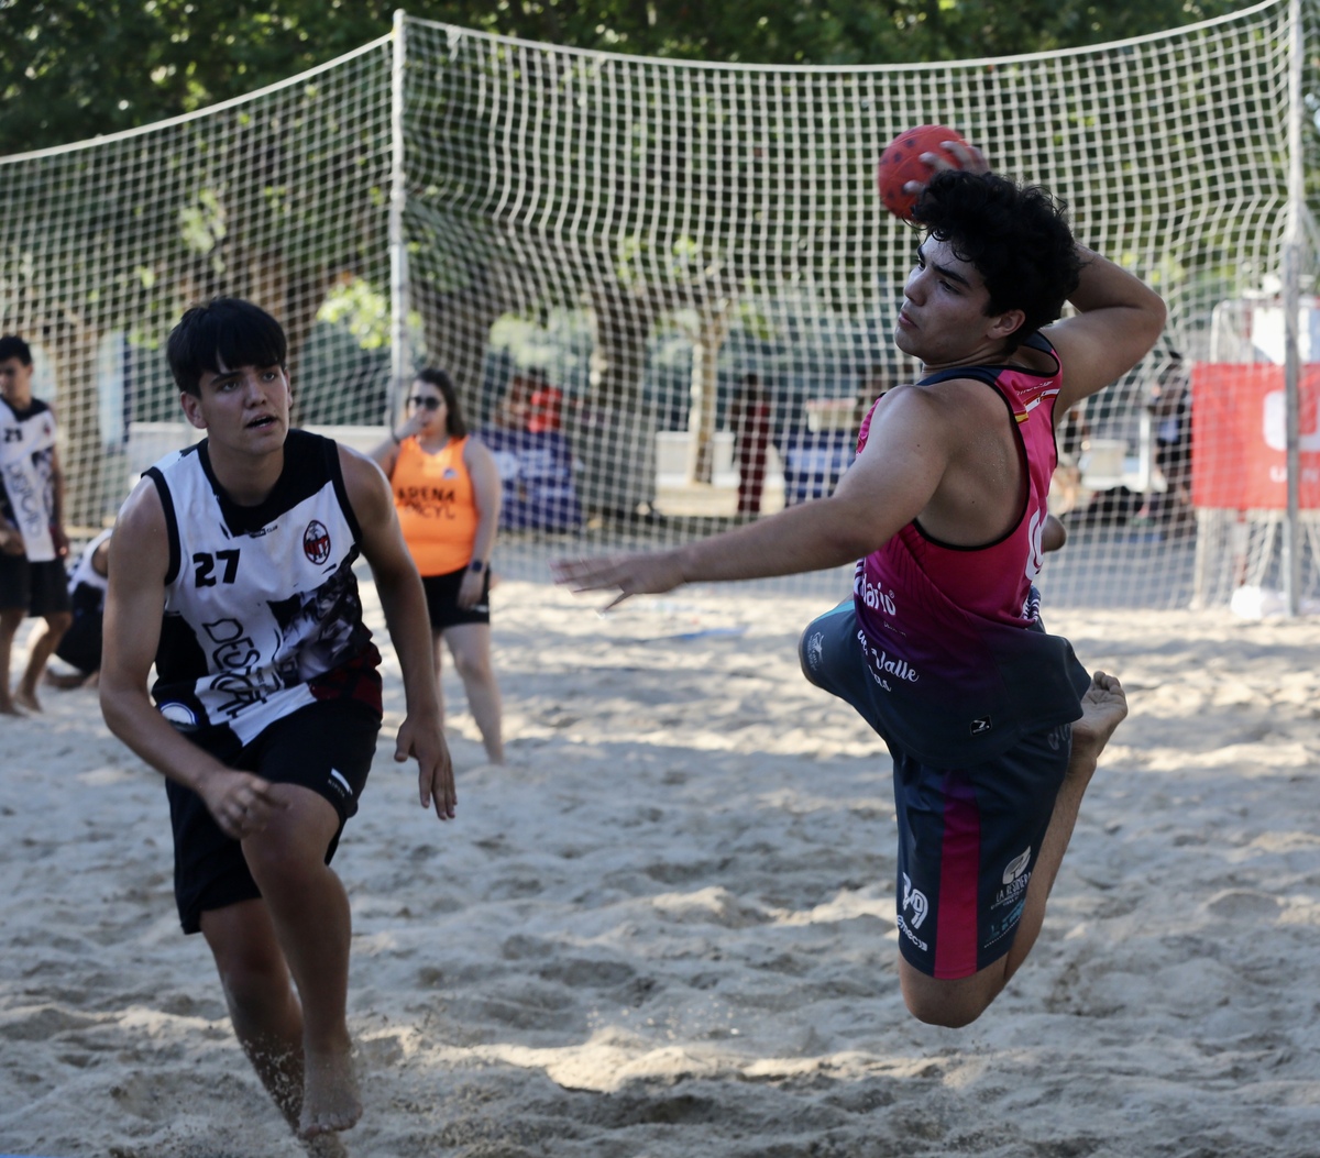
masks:
[[[112,520],[195,434],[164,342],[197,301],[281,319],[302,422],[381,421],[388,357],[318,314],[352,278],[388,280],[387,42],[202,115],[3,158],[0,179],[0,330],[28,339],[55,405],[71,532]]]

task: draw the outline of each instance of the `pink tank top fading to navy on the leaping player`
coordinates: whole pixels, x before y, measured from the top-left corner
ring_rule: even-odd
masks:
[[[1041,335],[1026,344],[1048,353],[1055,371],[960,367],[921,380],[977,379],[1003,400],[1027,468],[1012,528],[993,543],[958,547],[911,522],[854,574],[858,641],[887,692],[880,704],[892,707],[884,711],[887,739],[933,764],[991,758],[1030,731],[1078,719],[1089,683],[1068,641],[1045,634],[1032,586],[1057,462],[1053,406],[1063,367]],[[858,451],[870,423],[867,414]]]

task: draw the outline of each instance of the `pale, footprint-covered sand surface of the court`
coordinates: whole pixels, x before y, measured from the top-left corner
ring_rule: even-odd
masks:
[[[510,764],[447,673],[450,824],[391,760],[387,655],[335,860],[350,1154],[1320,1154],[1320,621],[1052,616],[1131,716],[1031,960],[954,1031],[898,990],[888,757],[797,670],[828,601],[599,601],[498,588]],[[0,719],[0,1153],[302,1153],[178,931],[160,777],[92,692],[45,704]]]

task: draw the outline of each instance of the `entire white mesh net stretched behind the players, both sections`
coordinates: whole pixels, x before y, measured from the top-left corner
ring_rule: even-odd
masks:
[[[673,543],[828,492],[861,410],[915,373],[890,331],[916,239],[880,211],[874,162],[902,129],[949,124],[1064,197],[1078,237],[1170,305],[1166,342],[1064,446],[1072,537],[1043,575],[1049,603],[1224,601],[1280,582],[1282,491],[1249,497],[1234,475],[1276,476],[1259,419],[1276,380],[1222,367],[1282,360],[1287,13],[870,69],[628,58],[408,21],[399,158],[381,41],[197,117],[0,162],[0,320],[46,355],[86,528],[183,433],[158,347],[215,291],[285,322],[302,422],[374,438],[401,386],[397,160],[401,360],[454,375],[506,476],[498,566],[544,578],[556,554]],[[1311,7],[1307,21],[1313,45]],[[1315,476],[1305,392],[1302,430]],[[1259,454],[1225,458],[1243,443]],[[1315,595],[1315,485],[1303,500]]]

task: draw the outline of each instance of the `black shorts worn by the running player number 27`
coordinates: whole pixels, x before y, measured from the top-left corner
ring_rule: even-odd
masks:
[[[379,732],[380,716],[366,704],[318,700],[277,720],[246,748],[210,750],[230,768],[272,783],[301,785],[334,805],[339,828],[326,849],[330,864],[345,822],[358,811]],[[174,781],[166,781],[165,790],[174,830],[178,919],[183,932],[199,932],[202,913],[255,901],[261,890],[248,872],[243,845],[220,831],[202,798]]]

